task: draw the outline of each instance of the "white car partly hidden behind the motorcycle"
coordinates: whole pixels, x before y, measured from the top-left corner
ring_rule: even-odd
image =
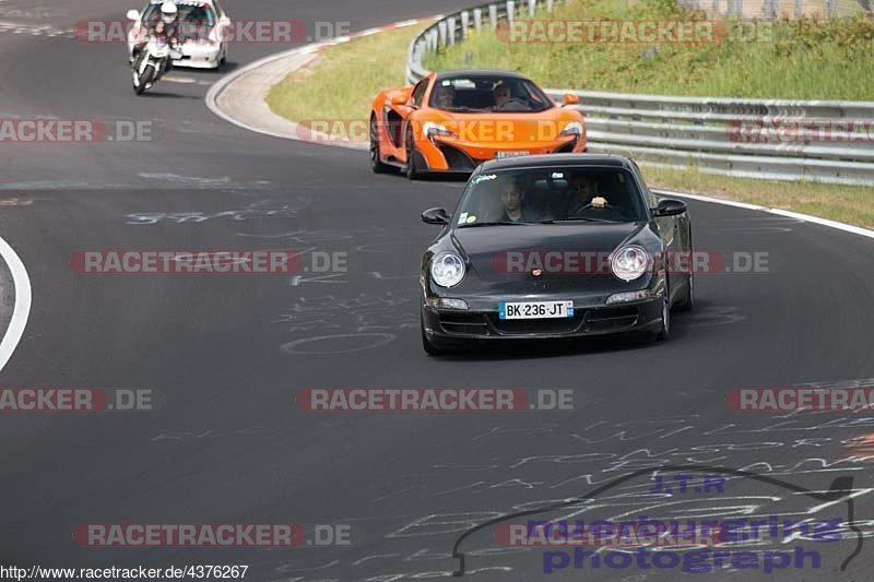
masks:
[[[142,43],[141,36],[146,23],[161,20],[163,0],[150,0],[142,13],[128,11],[128,19],[135,22],[128,32],[128,57],[133,58],[135,47]],[[179,0],[179,36],[182,41],[182,57],[174,59],[174,67],[196,69],[217,69],[227,59],[225,32],[231,26],[224,9],[215,0]]]

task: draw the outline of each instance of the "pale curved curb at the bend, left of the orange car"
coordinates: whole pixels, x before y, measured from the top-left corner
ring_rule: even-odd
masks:
[[[326,40],[322,43],[312,43],[309,45],[304,45],[303,47],[297,47],[292,50],[286,50],[283,52],[277,52],[275,55],[270,55],[269,57],[264,57],[263,59],[259,59],[255,62],[251,62],[241,69],[234,71],[218,81],[216,81],[210,90],[206,92],[206,96],[204,97],[206,102],[206,107],[216,116],[221,117],[225,121],[233,123],[237,127],[243,129],[247,129],[249,131],[253,131],[256,133],[262,133],[264,135],[271,135],[273,138],[281,138],[286,140],[295,140],[300,142],[308,142],[308,143],[319,143],[323,145],[333,145],[338,147],[347,147],[351,150],[367,150],[368,146],[366,144],[357,143],[357,142],[345,142],[342,140],[336,140],[330,138],[327,134],[321,134],[318,132],[312,132],[309,128],[306,128],[305,131],[298,131],[299,124],[295,123],[294,121],[290,121],[284,117],[280,117],[267,107],[267,104],[263,104],[263,98],[260,99],[260,103],[252,105],[251,103],[247,103],[246,105],[249,107],[255,106],[256,108],[260,109],[253,116],[256,119],[251,121],[243,121],[237,117],[227,112],[220,104],[218,99],[222,95],[231,90],[235,90],[235,84],[245,78],[248,74],[255,74],[255,72],[259,70],[267,69],[269,66],[277,64],[281,66],[277,61],[290,60],[292,62],[288,63],[287,68],[282,68],[282,78],[284,79],[288,73],[298,70],[299,68],[309,63],[316,55],[327,47],[332,47],[335,45],[341,45],[344,43],[350,43],[357,38],[362,38],[365,36],[370,36],[377,33],[382,33],[387,31],[392,31],[394,28],[402,28],[405,26],[414,26],[420,23],[433,22],[442,17],[442,14],[438,14],[435,16],[427,16],[424,19],[414,19],[414,20],[406,20],[394,22],[392,24],[387,24],[385,26],[377,26],[375,28],[367,28],[366,31],[362,31],[359,33],[355,33],[349,36],[341,36],[331,40]],[[307,59],[307,57],[310,57]],[[294,62],[297,61],[297,62]],[[258,88],[259,95],[267,95],[267,92],[270,90],[270,84],[264,87]],[[263,105],[262,105],[263,104]],[[315,135],[316,138],[321,139],[307,139],[300,133]]]

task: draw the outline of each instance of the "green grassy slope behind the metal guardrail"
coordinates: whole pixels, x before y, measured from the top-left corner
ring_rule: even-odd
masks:
[[[538,19],[707,20],[675,0],[576,0]],[[729,29],[737,24],[721,21]],[[763,37],[767,28],[763,29]],[[507,38],[507,36],[505,36]],[[510,69],[543,86],[686,96],[874,99],[874,19],[776,22],[771,40],[710,44],[509,43],[492,31],[425,60],[428,69]],[[646,55],[643,54],[646,51]]]

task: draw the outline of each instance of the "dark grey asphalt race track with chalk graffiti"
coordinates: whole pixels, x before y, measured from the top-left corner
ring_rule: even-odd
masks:
[[[226,8],[238,19],[349,21],[356,31],[465,3],[228,0]],[[61,1],[36,21],[21,15],[34,5],[0,2],[0,20],[63,27],[134,8]],[[235,46],[231,67],[281,48]],[[245,563],[256,581],[442,578],[458,567],[450,554],[466,527],[581,496],[590,483],[633,470],[689,463],[820,490],[851,476],[857,524],[872,530],[864,488],[874,453],[859,447],[874,426],[869,415],[745,414],[724,403],[735,387],[874,377],[869,239],[690,202],[697,249],[767,252],[769,271],[699,276],[698,308],[675,317],[669,342],[521,344],[428,358],[417,273],[436,230],[418,213],[453,206],[460,183],[375,176],[365,153],[225,123],[203,104],[218,73],[178,71],[197,83],[166,82],[134,98],[120,45],[2,32],[0,55],[0,117],[162,128],[153,142],[0,145],[0,234],[33,286],[29,322],[0,385],[152,389],[161,400],[151,413],[0,418],[0,563]],[[69,263],[83,249],[236,248],[347,252],[349,273],[83,276]],[[341,387],[569,389],[576,409],[315,414],[295,405],[297,390]],[[599,503],[617,515],[648,499],[648,487],[647,479],[624,484]],[[675,500],[685,516],[724,507],[846,515],[842,504],[823,507],[747,478],[732,479],[722,495]],[[350,524],[352,543],[192,549],[72,541],[82,523],[288,522]],[[819,570],[705,578],[869,580],[869,547],[839,570],[855,544],[813,544]],[[546,575],[542,550],[503,548],[487,533],[462,550],[466,577],[476,580],[681,577],[634,567]]]

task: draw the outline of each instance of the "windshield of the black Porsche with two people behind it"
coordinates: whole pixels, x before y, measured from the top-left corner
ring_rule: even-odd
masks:
[[[621,168],[547,167],[473,176],[458,228],[501,224],[627,223],[646,219],[640,190]]]

